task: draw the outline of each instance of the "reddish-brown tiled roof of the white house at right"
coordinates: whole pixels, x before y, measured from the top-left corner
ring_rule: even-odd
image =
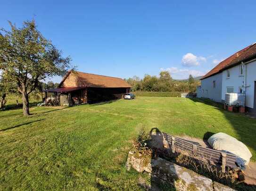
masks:
[[[201,80],[205,79],[207,77],[213,76],[215,74],[218,74],[223,69],[234,66],[234,65],[238,64],[239,62],[245,61],[245,60],[247,60],[247,59],[249,59],[249,58],[251,58],[255,55],[256,55],[256,43],[254,43],[250,46],[247,46],[246,48],[238,51],[237,53],[234,53],[233,55],[231,55],[227,59],[221,61],[217,66],[215,66],[214,69],[212,69],[205,76],[203,76],[201,78]]]

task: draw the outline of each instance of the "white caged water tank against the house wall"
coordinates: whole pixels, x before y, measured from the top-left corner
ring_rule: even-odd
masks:
[[[245,93],[226,93],[225,104],[229,106],[245,106]]]

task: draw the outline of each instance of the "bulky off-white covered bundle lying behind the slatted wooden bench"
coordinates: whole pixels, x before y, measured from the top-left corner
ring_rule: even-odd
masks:
[[[246,145],[225,133],[214,134],[208,138],[208,143],[215,150],[237,155],[241,159],[245,160],[245,165],[248,165],[250,158],[252,157],[252,153]]]

